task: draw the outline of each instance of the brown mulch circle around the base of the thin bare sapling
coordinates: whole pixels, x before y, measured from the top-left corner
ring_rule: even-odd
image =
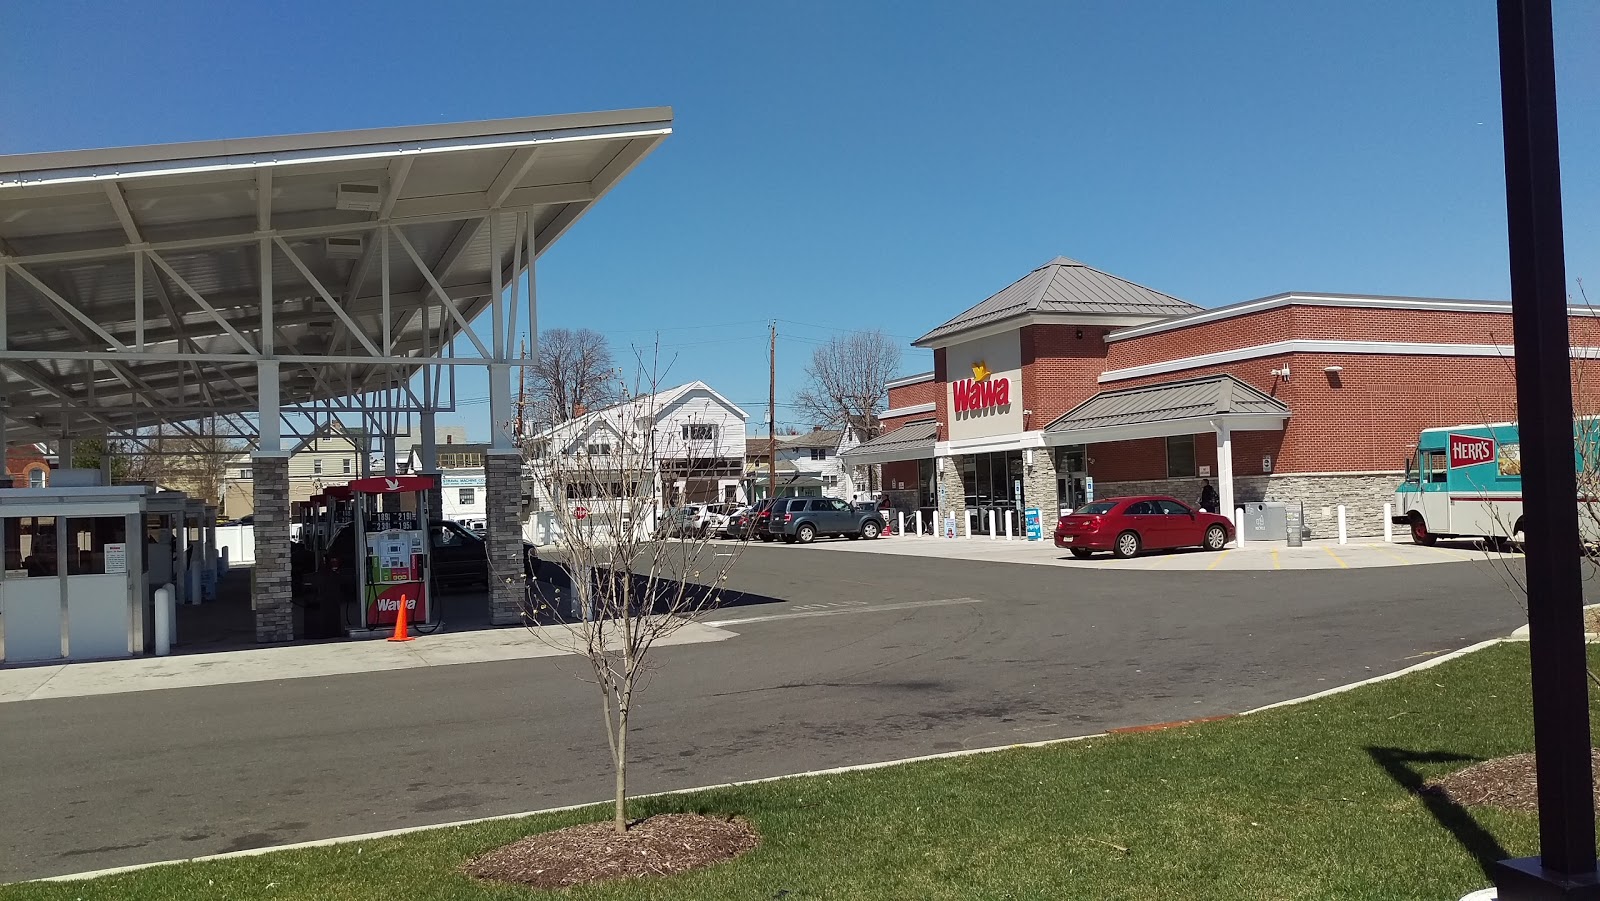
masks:
[[[534,888],[563,888],[701,869],[731,861],[760,840],[739,816],[664,813],[635,823],[626,835],[618,835],[610,823],[528,835],[467,861],[462,872]]]

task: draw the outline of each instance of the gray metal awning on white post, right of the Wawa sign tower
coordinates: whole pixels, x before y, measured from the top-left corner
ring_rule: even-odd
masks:
[[[1046,445],[1086,445],[1192,435],[1227,426],[1280,430],[1290,408],[1234,376],[1205,376],[1102,390],[1045,426]]]

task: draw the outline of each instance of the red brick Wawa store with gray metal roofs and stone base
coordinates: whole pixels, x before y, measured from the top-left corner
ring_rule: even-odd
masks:
[[[1600,323],[1573,310],[1578,365]],[[1226,509],[1347,507],[1382,531],[1424,427],[1515,418],[1510,306],[1288,293],[1200,309],[1058,258],[915,341],[934,368],[890,384],[888,429],[851,451],[899,509],[998,515],[1088,496]],[[986,515],[976,517],[981,530]]]

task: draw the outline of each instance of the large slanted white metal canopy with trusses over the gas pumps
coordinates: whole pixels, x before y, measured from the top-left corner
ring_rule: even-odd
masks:
[[[506,365],[499,290],[670,126],[658,107],[0,157],[8,440],[339,411],[424,363]],[[442,358],[459,336],[475,355]]]

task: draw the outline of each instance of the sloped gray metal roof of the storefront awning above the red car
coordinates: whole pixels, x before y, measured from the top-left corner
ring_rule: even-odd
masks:
[[[1229,374],[1102,390],[1062,413],[1045,432],[1080,432],[1226,414],[1288,416],[1282,400]]]

